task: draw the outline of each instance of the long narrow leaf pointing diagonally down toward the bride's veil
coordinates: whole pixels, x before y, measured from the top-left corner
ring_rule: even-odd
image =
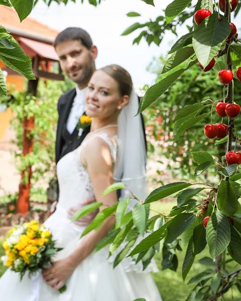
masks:
[[[177,70],[173,72],[172,74],[168,75],[167,77],[160,80],[157,84],[153,85],[150,89],[147,90],[146,94],[140,101],[138,113],[141,113],[143,110],[145,110],[150,104],[152,104],[154,101],[158,101],[161,99],[161,95],[169,88],[171,85],[178,79],[178,77],[188,70],[190,67],[196,64],[196,60],[191,62],[187,68]]]

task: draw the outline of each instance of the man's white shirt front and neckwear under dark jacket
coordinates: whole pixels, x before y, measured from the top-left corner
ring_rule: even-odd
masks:
[[[76,96],[74,97],[74,101],[69,113],[69,117],[67,119],[66,128],[70,134],[74,131],[79,117],[83,115],[85,111],[85,92],[87,87],[84,89],[79,89],[76,87]]]

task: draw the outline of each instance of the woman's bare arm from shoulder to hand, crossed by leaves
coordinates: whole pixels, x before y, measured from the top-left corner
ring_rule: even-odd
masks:
[[[102,192],[113,184],[113,168],[110,150],[102,139],[93,139],[83,150],[82,158],[93,186],[97,202],[103,203],[100,210],[117,202],[115,192],[102,197]],[[98,241],[107,235],[115,223],[114,215],[105,219],[98,230],[86,234],[81,243],[65,259],[54,262],[53,266],[43,271],[43,276],[51,287],[60,288],[78,264],[83,261],[95,248]]]

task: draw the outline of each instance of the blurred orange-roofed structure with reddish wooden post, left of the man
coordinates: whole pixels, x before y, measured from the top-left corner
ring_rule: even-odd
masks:
[[[36,96],[38,80],[64,80],[58,63],[58,56],[52,46],[54,38],[58,34],[56,30],[43,25],[31,18],[25,19],[22,23],[15,10],[0,5],[0,24],[9,31],[19,42],[25,53],[32,58],[33,73],[36,80],[29,80],[28,93]],[[8,68],[0,61],[0,68],[7,72],[7,85],[15,85],[16,89],[23,90],[24,77],[16,71]],[[57,72],[53,72],[53,70]],[[9,112],[6,112],[9,113]],[[3,112],[0,114],[4,114]],[[2,125],[3,126],[3,125]],[[6,125],[4,125],[6,126]],[[23,156],[33,152],[33,138],[29,133],[34,128],[34,117],[25,118],[23,122]],[[1,133],[1,128],[0,128]],[[1,137],[0,137],[1,138]],[[24,175],[28,174],[27,183],[23,183]],[[19,199],[17,212],[26,214],[29,211],[29,196],[31,185],[32,167],[29,166],[22,172],[21,183],[19,184]]]

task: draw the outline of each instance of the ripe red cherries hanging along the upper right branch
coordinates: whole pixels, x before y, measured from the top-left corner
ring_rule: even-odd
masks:
[[[224,13],[225,11],[225,0],[219,0],[218,2],[220,10]],[[237,0],[231,0],[230,3],[230,12],[233,12],[237,7]],[[212,13],[209,10],[198,10],[194,15],[194,21],[197,25],[200,25],[205,18],[210,16]],[[237,29],[233,23],[229,23],[231,27],[231,32],[227,37],[227,41],[235,37]],[[199,68],[206,72],[213,68],[215,65],[215,59],[213,58],[209,64],[203,68],[200,62],[198,62]],[[241,82],[241,67],[236,70],[236,77]],[[218,79],[224,85],[228,85],[233,79],[233,73],[230,69],[220,70],[218,72]],[[235,118],[240,112],[240,106],[235,103],[226,103],[225,99],[219,100],[216,105],[216,113],[220,117],[231,117]],[[215,123],[215,124],[206,124],[204,126],[204,134],[207,138],[213,139],[218,138],[222,139],[228,134],[228,126],[224,123]],[[241,164],[241,153],[228,152],[226,154],[226,162],[228,164]]]

